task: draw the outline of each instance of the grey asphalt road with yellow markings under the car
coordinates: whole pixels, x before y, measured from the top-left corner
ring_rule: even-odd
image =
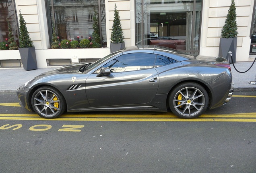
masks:
[[[147,112],[45,120],[0,93],[0,172],[255,173],[256,93],[234,95],[188,121]]]

